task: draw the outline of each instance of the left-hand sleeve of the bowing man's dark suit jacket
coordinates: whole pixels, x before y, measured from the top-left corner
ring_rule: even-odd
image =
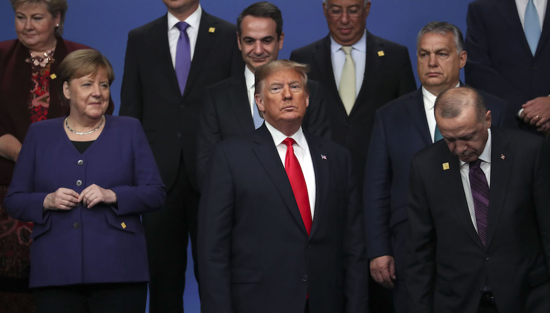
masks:
[[[417,158],[410,171],[406,289],[410,313],[433,312],[436,235]]]

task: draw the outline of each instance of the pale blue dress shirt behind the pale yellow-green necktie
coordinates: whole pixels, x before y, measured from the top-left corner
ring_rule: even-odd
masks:
[[[351,49],[351,58],[355,64],[355,98],[361,90],[363,85],[363,76],[365,75],[365,63],[367,58],[367,31],[363,33],[363,36],[357,41]],[[334,41],[331,36],[331,58],[332,58],[332,72],[334,73],[334,81],[336,86],[340,88],[340,76],[342,76],[342,69],[344,68],[345,53],[340,48],[342,44]]]

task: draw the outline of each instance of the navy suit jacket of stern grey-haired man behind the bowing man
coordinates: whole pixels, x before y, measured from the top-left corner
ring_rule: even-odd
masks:
[[[517,128],[504,100],[480,91],[492,127]],[[430,146],[422,88],[384,105],[376,112],[365,166],[363,208],[367,256],[392,255],[397,277],[405,279],[407,193],[412,156]]]

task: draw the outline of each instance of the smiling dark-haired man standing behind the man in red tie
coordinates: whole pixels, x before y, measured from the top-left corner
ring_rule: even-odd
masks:
[[[199,181],[216,143],[262,125],[254,102],[254,71],[257,66],[276,60],[283,48],[281,10],[268,2],[245,8],[237,19],[237,43],[246,63],[243,71],[208,87],[200,118],[197,163]],[[308,81],[310,105],[302,125],[313,135],[329,137],[322,87]]]

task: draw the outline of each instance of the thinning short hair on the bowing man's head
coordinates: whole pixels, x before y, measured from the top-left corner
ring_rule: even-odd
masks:
[[[462,86],[443,91],[436,98],[434,111],[444,119],[459,116],[462,110],[475,105],[477,120],[482,122],[487,114],[487,107],[483,97],[474,88]]]

